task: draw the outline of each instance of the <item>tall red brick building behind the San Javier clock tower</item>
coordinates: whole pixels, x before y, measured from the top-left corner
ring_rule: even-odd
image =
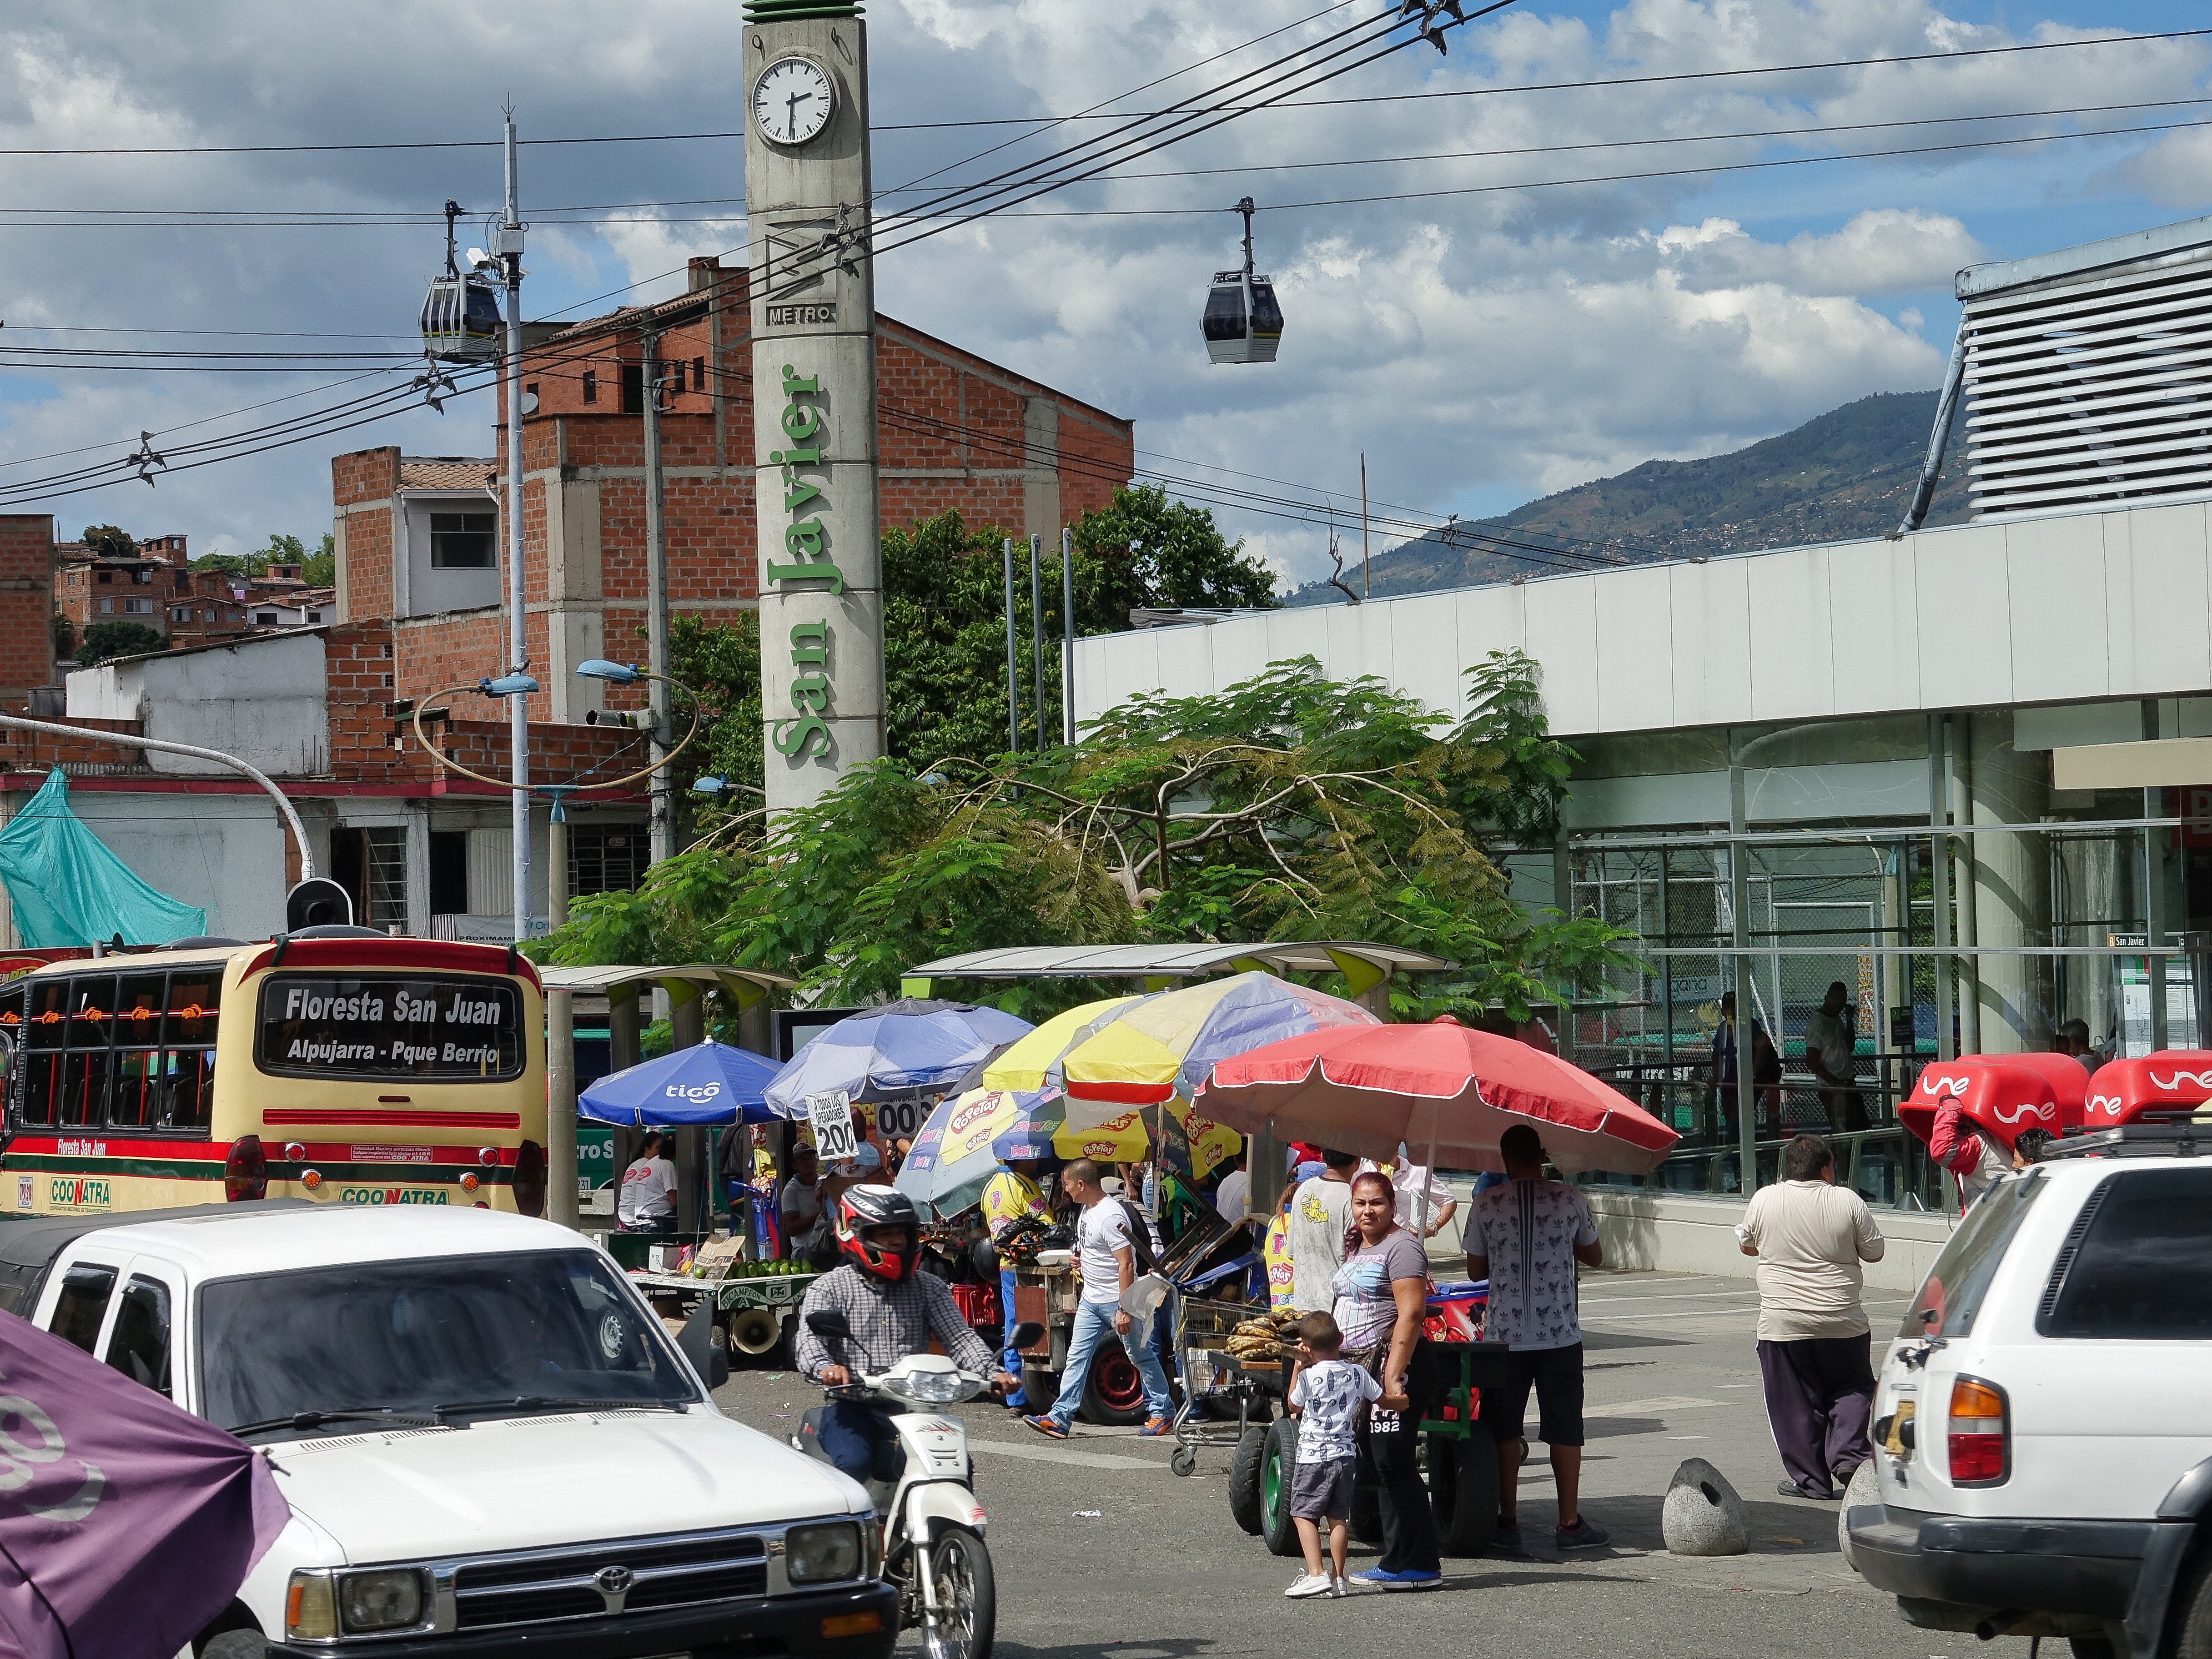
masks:
[[[524,582],[531,714],[582,721],[588,657],[646,655],[644,332],[661,336],[661,500],[670,608],[759,602],[752,341],[743,270],[690,261],[690,292],[553,334],[524,354]],[[1135,427],[889,316],[876,321],[883,524],[958,507],[1006,533],[1104,507],[1135,469]],[[504,396],[504,392],[502,392]],[[502,449],[504,449],[504,407]],[[338,615],[392,617],[396,695],[495,672],[507,655],[507,462],[365,449],[332,460]],[[480,542],[489,535],[489,546]],[[613,701],[622,701],[622,692]],[[635,695],[630,697],[635,701]]]

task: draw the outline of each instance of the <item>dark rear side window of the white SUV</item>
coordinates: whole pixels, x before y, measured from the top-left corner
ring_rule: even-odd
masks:
[[[2128,1170],[2090,1192],[2051,1267],[2035,1329],[2212,1338],[2212,1170]]]

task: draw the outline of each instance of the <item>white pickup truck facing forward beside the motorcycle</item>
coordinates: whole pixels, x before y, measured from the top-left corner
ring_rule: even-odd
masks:
[[[0,1307],[268,1455],[292,1522],[195,1659],[885,1659],[898,1637],[867,1493],[723,1418],[706,1323],[672,1343],[564,1228],[11,1221]]]

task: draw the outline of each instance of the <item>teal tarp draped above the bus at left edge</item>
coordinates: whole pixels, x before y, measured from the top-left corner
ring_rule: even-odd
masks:
[[[55,768],[31,803],[0,830],[0,880],[15,907],[15,938],[27,949],[166,945],[208,931],[208,911],[179,905],[131,874],[69,810],[69,779]]]

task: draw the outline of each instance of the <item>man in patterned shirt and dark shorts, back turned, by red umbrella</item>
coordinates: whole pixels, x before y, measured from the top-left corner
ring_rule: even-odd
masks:
[[[1506,1376],[1482,1389],[1482,1427],[1498,1442],[1498,1544],[1520,1548],[1517,1480],[1528,1442],[1522,1418],[1535,1385],[1537,1433],[1551,1447],[1553,1484],[1559,1489],[1564,1548],[1597,1548],[1610,1533],[1579,1511],[1582,1498],[1582,1325],[1575,1263],[1597,1267],[1590,1203],[1564,1181],[1544,1179],[1544,1141],[1528,1124],[1498,1137],[1506,1183],[1475,1197],[1462,1241],[1467,1276],[1491,1281],[1482,1334],[1509,1343]]]

